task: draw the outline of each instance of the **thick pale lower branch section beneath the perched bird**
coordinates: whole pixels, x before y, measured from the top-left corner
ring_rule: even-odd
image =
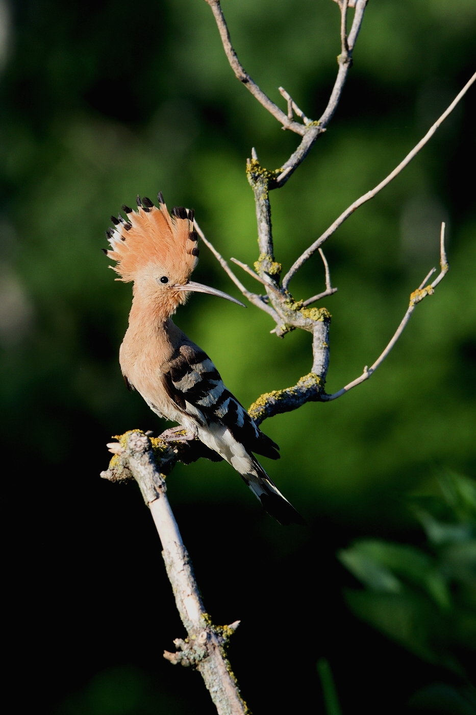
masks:
[[[160,541],[167,576],[172,584],[175,603],[188,638],[176,638],[177,651],[164,652],[172,664],[196,668],[209,690],[219,715],[247,715],[248,709],[239,693],[237,681],[226,656],[229,637],[239,626],[214,626],[205,611],[195,580],[192,562],[170,508],[162,468],[169,472],[184,450],[197,442],[183,429],[167,430],[160,438],[149,440],[141,430],[131,430],[108,445],[114,453],[109,469],[101,477],[109,481],[134,478],[149,506]],[[179,433],[179,434],[177,434]],[[163,439],[162,439],[163,438]],[[152,443],[156,445],[155,455]],[[200,445],[197,448],[201,450]],[[157,461],[159,468],[157,468]],[[192,459],[194,460],[194,455]]]

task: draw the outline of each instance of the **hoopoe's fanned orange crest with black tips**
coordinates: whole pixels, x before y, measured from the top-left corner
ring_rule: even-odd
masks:
[[[162,192],[158,194],[159,207],[147,197],[137,197],[137,212],[122,206],[127,220],[111,216],[114,228],[106,231],[111,245],[104,253],[116,261],[111,266],[123,282],[135,280],[139,272],[149,265],[167,267],[177,272],[184,281],[197,265],[198,235],[194,231],[194,212],[184,207],[174,207],[168,212]]]

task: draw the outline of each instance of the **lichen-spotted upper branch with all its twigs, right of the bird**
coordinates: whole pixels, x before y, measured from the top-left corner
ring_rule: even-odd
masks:
[[[234,69],[234,72],[237,75],[238,79],[240,79],[242,82],[244,82],[244,79],[246,79],[246,82],[248,82],[247,78],[249,78],[249,76],[244,73],[244,70],[237,59],[237,55],[232,48],[227,25],[224,20],[222,9],[219,6],[219,0],[206,1],[212,7],[215,19],[217,19],[219,31],[222,36],[224,51],[225,54],[227,54],[230,65]],[[382,361],[385,360],[390,350],[392,350],[392,347],[395,345],[395,342],[397,342],[398,338],[402,334],[402,331],[405,329],[408,320],[410,320],[410,316],[412,315],[413,310],[415,310],[415,305],[417,305],[417,302],[422,300],[422,297],[432,294],[434,288],[433,284],[428,285],[425,289],[422,289],[422,287],[420,286],[420,288],[417,289],[415,293],[412,293],[412,296],[410,297],[410,306],[405,313],[405,317],[400,323],[400,327],[398,328],[397,332],[395,332],[394,337],[392,337],[392,340],[390,341],[389,345],[387,345],[384,352],[382,352],[382,355],[380,355],[380,358],[377,359],[377,361],[374,363],[374,365],[372,365],[370,370],[368,370],[366,367],[364,373],[360,376],[360,378],[357,378],[357,380],[354,380],[352,383],[349,383],[349,385],[346,385],[344,388],[342,388],[342,390],[339,390],[333,395],[327,395],[324,392],[324,385],[327,377],[327,367],[329,365],[328,338],[330,315],[325,308],[320,308],[318,310],[317,308],[309,308],[308,306],[311,305],[312,302],[320,300],[323,297],[327,297],[328,295],[332,295],[334,292],[336,292],[337,288],[332,288],[329,275],[329,266],[327,265],[327,260],[322,253],[321,245],[337,230],[340,225],[342,225],[342,223],[350,215],[352,215],[352,213],[358,207],[375,197],[375,195],[380,192],[385,186],[387,186],[387,184],[389,184],[392,179],[394,179],[398,174],[400,174],[402,169],[404,169],[407,164],[410,163],[410,161],[417,155],[417,153],[420,152],[420,149],[422,149],[422,147],[424,147],[425,144],[430,140],[432,135],[435,134],[437,128],[440,127],[440,124],[445,121],[447,116],[452,112],[452,110],[456,107],[457,103],[460,102],[460,99],[464,97],[467,90],[470,89],[471,85],[476,80],[475,74],[470,79],[470,81],[467,82],[465,87],[463,87],[463,89],[457,95],[452,104],[450,104],[450,107],[447,108],[447,110],[442,114],[442,116],[437,119],[437,122],[433,124],[427,134],[425,134],[425,137],[423,137],[423,139],[421,139],[417,146],[414,147],[414,149],[412,149],[409,154],[407,154],[407,157],[405,157],[405,159],[400,162],[400,164],[382,182],[380,182],[377,187],[375,187],[375,189],[372,189],[370,192],[367,192],[367,194],[360,197],[360,199],[357,199],[356,202],[354,202],[348,209],[346,209],[342,213],[342,215],[332,224],[332,226],[329,227],[329,229],[327,229],[327,231],[324,232],[324,234],[319,237],[319,239],[315,241],[297,259],[296,262],[294,262],[292,267],[287,272],[287,275],[284,276],[282,285],[279,285],[279,276],[281,274],[282,267],[274,259],[269,191],[271,189],[282,187],[284,183],[287,182],[292,172],[294,172],[297,166],[299,166],[299,164],[307,156],[307,152],[309,152],[309,149],[312,147],[312,144],[314,143],[315,139],[317,139],[317,136],[325,131],[327,124],[329,123],[330,119],[332,119],[335,109],[337,108],[337,104],[339,103],[339,99],[342,95],[342,89],[344,87],[345,79],[347,78],[349,67],[352,66],[352,50],[354,49],[355,43],[357,41],[357,36],[360,32],[360,28],[362,26],[362,19],[365,13],[365,8],[367,6],[367,0],[335,1],[339,5],[339,9],[341,12],[341,54],[339,54],[337,58],[339,70],[337,72],[337,79],[334,83],[334,88],[332,89],[331,96],[329,97],[327,107],[318,122],[311,122],[310,119],[307,119],[307,117],[304,115],[304,112],[299,109],[290,94],[283,87],[279,87],[279,92],[282,94],[282,96],[287,102],[287,114],[281,112],[281,110],[279,110],[276,105],[273,104],[267,97],[266,102],[264,102],[262,93],[259,94],[261,90],[259,90],[259,87],[257,87],[254,82],[249,85],[250,91],[252,91],[252,93],[257,97],[258,101],[261,102],[261,104],[263,104],[263,106],[266,107],[269,112],[274,114],[274,116],[276,116],[280,122],[282,122],[283,127],[285,126],[284,119],[287,122],[290,122],[293,117],[293,112],[296,113],[297,116],[302,119],[306,127],[306,131],[303,133],[301,144],[297,148],[296,152],[294,152],[294,154],[289,157],[288,161],[283,164],[280,169],[273,171],[262,167],[259,164],[257,152],[254,148],[252,149],[252,159],[247,159],[247,178],[254,192],[254,203],[257,215],[259,258],[254,264],[256,274],[246,264],[239,262],[236,259],[232,260],[234,260],[234,262],[240,265],[245,271],[247,271],[255,279],[259,280],[262,285],[264,285],[267,291],[267,297],[250,294],[247,289],[242,285],[242,283],[238,280],[238,278],[234,275],[232,270],[229,268],[227,262],[222,258],[221,255],[219,255],[219,253],[214,249],[212,244],[205,239],[202,232],[199,232],[204,242],[207,244],[209,249],[212,250],[215,257],[217,257],[217,260],[219,260],[221,265],[224,267],[224,270],[227,271],[229,277],[232,278],[235,285],[237,285],[242,291],[242,294],[247,296],[249,300],[254,303],[254,305],[257,305],[262,310],[265,310],[269,313],[269,315],[272,316],[276,325],[271,332],[276,333],[278,337],[284,337],[287,332],[290,332],[291,330],[296,330],[297,328],[312,332],[312,372],[298,380],[297,384],[293,385],[291,388],[286,388],[285,390],[273,390],[271,393],[265,393],[264,395],[261,395],[258,400],[253,403],[249,408],[249,413],[257,421],[257,423],[261,423],[262,420],[268,417],[272,417],[272,415],[297,409],[309,400],[322,402],[335,400],[341,395],[344,395],[344,393],[348,392],[356,385],[360,385],[360,383],[364,382],[365,380],[368,380],[368,378],[370,378],[370,375],[375,372],[375,370],[382,363]],[[352,26],[349,31],[349,34],[347,35],[347,9],[349,7],[354,8],[354,18],[352,20]],[[269,106],[269,103],[272,105],[272,107]],[[278,109],[278,113],[275,111],[276,109]],[[304,265],[304,262],[306,262],[316,250],[319,250],[322,260],[324,262],[324,267],[326,271],[326,290],[308,298],[307,300],[294,300],[291,293],[289,292],[289,281],[295,275],[297,270],[299,270],[299,268]],[[444,229],[442,229],[442,252],[444,252]],[[448,269],[447,263],[445,263],[445,265],[446,268],[445,270],[443,270],[442,268],[442,273],[437,278],[437,282],[442,280],[442,277],[445,275],[445,272]]]

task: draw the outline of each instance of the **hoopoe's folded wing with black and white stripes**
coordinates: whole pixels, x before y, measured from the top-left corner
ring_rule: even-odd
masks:
[[[208,424],[219,421],[249,452],[279,459],[275,444],[227,390],[208,355],[197,345],[181,345],[164,373],[164,388],[177,407],[187,413],[187,403],[197,408]],[[194,415],[196,416],[196,415]]]

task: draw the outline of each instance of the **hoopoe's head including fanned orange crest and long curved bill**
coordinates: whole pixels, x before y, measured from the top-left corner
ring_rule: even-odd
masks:
[[[159,207],[147,197],[137,197],[137,212],[125,204],[127,220],[111,216],[114,229],[106,231],[111,245],[104,250],[116,261],[116,280],[134,282],[134,296],[152,300],[164,315],[172,315],[189,292],[217,295],[243,305],[231,295],[190,280],[198,262],[198,234],[194,212],[184,207],[167,211],[162,193]]]

